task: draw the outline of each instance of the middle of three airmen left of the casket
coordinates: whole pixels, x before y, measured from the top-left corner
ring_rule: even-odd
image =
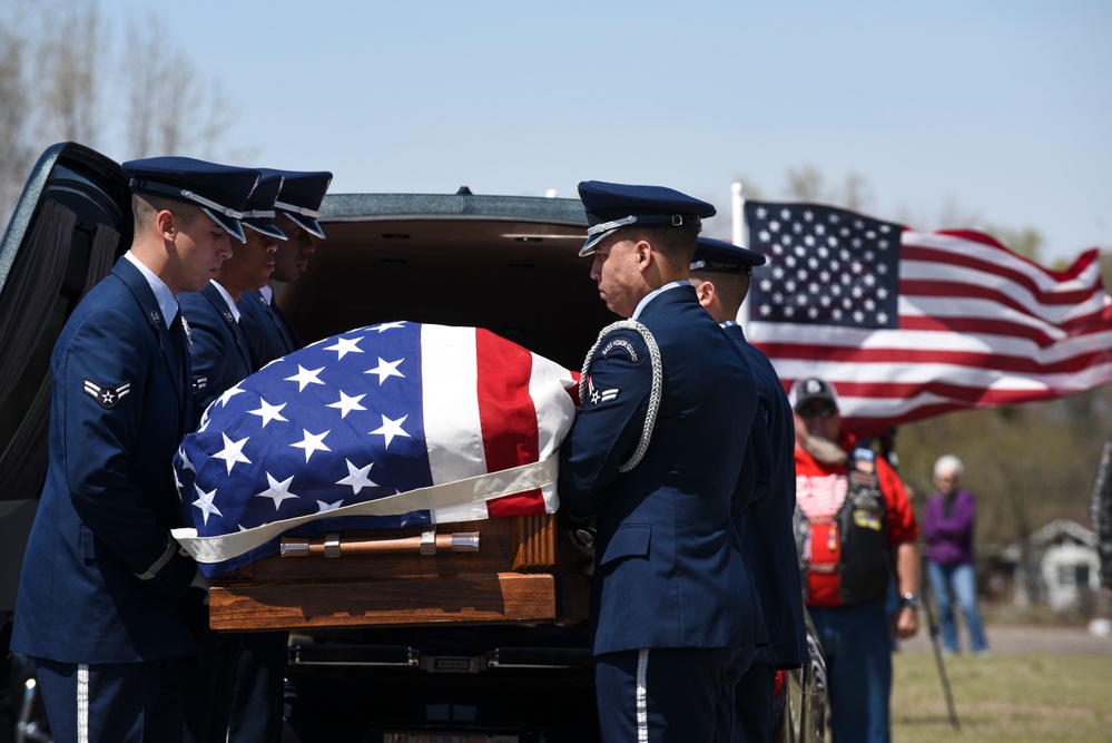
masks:
[[[194,392],[204,412],[253,368],[236,301],[266,285],[274,271],[278,241],[274,202],[282,176],[265,173],[252,192],[242,223],[247,241],[234,244],[232,257],[199,292],[180,296],[193,339]],[[184,499],[183,508],[193,508]],[[183,706],[185,740],[275,743],[282,735],[282,688],[288,634],[284,632],[216,633],[208,608],[197,607],[200,657],[185,666]],[[265,662],[264,662],[265,661]],[[240,673],[238,666],[247,666]]]

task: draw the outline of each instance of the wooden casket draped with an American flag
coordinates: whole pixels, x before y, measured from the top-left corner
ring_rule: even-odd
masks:
[[[174,459],[213,626],[554,614],[574,385],[489,331],[387,322],[227,390]]]

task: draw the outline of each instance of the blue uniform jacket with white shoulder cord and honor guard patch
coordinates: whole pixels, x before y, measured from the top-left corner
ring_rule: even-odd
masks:
[[[759,620],[730,518],[757,409],[752,375],[683,285],[638,321],[660,348],[663,392],[641,462],[650,361],[636,331],[613,332],[592,358],[587,400],[560,452],[572,516],[597,514],[591,596],[594,653],[752,645]]]

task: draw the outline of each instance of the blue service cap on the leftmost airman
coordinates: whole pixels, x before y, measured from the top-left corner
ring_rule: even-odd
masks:
[[[247,239],[239,221],[258,170],[191,157],[148,157],[120,167],[131,178],[131,190],[195,204],[236,239]]]

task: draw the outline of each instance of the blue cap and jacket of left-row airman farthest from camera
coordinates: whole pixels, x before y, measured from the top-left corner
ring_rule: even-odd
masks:
[[[282,177],[282,190],[275,209],[311,235],[324,239],[324,229],[317,222],[321,202],[332,184],[327,170],[272,170],[263,168],[263,177],[272,174]],[[262,369],[275,359],[301,349],[304,343],[297,330],[272,302],[273,296],[259,290],[244,292],[237,302],[243,317],[240,325],[250,346],[255,369]]]

